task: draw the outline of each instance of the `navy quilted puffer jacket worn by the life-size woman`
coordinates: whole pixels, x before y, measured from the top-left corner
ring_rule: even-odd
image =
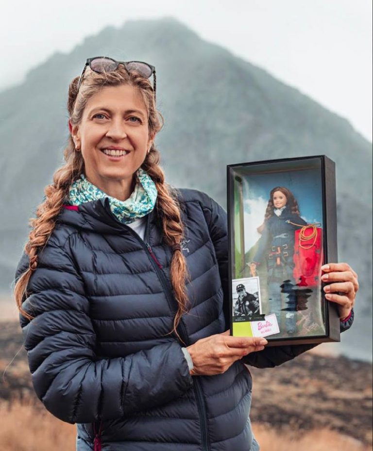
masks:
[[[270,347],[214,376],[191,376],[182,346],[229,329],[226,212],[180,190],[191,303],[177,310],[171,249],[155,209],[145,240],[121,224],[108,199],[62,209],[39,253],[20,316],[35,392],[57,418],[78,423],[77,450],[256,451],[248,363],[280,365],[312,345]],[[26,270],[24,254],[16,278]],[[348,329],[353,317],[341,322]],[[100,432],[98,432],[100,431]]]

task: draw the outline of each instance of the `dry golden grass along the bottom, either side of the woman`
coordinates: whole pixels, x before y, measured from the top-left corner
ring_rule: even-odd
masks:
[[[54,418],[32,402],[0,404],[1,451],[74,451],[75,426]],[[253,425],[261,451],[370,451],[357,440],[322,429],[279,433]],[[237,450],[238,451],[238,450]]]

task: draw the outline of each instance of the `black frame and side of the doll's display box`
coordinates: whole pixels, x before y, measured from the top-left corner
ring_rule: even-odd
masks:
[[[323,214],[323,261],[327,262],[338,261],[337,251],[337,208],[336,208],[336,177],[335,177],[335,163],[326,155],[316,155],[299,158],[286,158],[276,160],[263,160],[245,163],[236,163],[227,165],[227,210],[228,210],[228,268],[229,268],[229,301],[230,301],[230,332],[233,335],[233,314],[232,314],[232,265],[233,265],[233,249],[234,243],[234,170],[245,166],[273,164],[276,162],[291,163],[294,161],[306,161],[311,159],[320,159],[321,161],[321,181],[322,181],[322,214]],[[323,291],[324,283],[321,281],[322,297],[324,299]],[[288,337],[288,338],[268,338],[267,346],[279,345],[297,345],[297,344],[311,344],[322,342],[337,342],[340,341],[340,320],[338,307],[335,303],[325,302],[325,335],[311,336],[311,337]]]

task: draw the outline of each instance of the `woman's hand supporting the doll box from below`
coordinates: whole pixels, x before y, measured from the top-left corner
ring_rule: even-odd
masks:
[[[268,343],[261,337],[232,337],[229,330],[222,334],[201,338],[188,346],[192,361],[192,376],[221,374],[244,355],[262,351]]]

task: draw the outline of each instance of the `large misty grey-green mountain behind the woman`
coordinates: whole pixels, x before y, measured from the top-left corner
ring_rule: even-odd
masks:
[[[28,218],[62,162],[68,83],[87,57],[104,54],[156,66],[165,118],[157,145],[176,186],[225,206],[227,164],[321,154],[336,162],[339,261],[352,265],[361,285],[343,347],[371,358],[372,144],[345,119],[172,18],[105,28],[0,93],[0,289],[9,291]]]

